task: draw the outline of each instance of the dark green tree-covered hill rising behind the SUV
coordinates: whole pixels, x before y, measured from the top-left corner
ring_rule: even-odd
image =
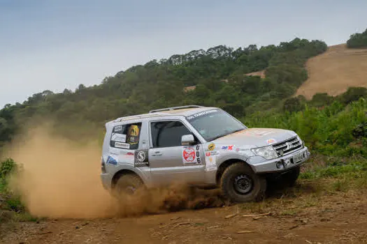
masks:
[[[78,138],[89,133],[86,125],[102,128],[116,117],[161,107],[216,106],[235,116],[270,109],[307,79],[305,61],[326,49],[320,40],[300,38],[263,47],[220,45],[133,66],[99,85],[36,93],[0,110],[0,146],[36,117],[52,119],[57,130]],[[245,75],[258,70],[266,77]],[[196,89],[185,91],[187,86]]]

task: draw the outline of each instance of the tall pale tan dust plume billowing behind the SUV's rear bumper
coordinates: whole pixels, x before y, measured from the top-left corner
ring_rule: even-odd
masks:
[[[97,142],[80,146],[36,128],[16,139],[8,153],[23,167],[10,186],[20,193],[32,215],[97,218],[116,211],[99,179],[101,148]]]

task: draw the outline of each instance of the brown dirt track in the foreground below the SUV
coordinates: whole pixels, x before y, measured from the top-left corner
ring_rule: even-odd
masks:
[[[136,218],[20,223],[6,231],[2,243],[367,243],[366,213],[366,192],[278,196]]]

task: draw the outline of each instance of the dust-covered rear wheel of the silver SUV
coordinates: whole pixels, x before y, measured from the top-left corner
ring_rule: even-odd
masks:
[[[117,179],[113,188],[115,197],[123,197],[123,195],[134,195],[138,190],[144,188],[144,183],[136,174],[123,174]]]

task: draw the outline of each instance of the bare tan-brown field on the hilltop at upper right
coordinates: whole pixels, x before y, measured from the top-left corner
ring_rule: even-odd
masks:
[[[367,87],[367,49],[335,45],[307,62],[309,79],[296,95],[311,99],[315,93],[337,96],[350,86]]]

